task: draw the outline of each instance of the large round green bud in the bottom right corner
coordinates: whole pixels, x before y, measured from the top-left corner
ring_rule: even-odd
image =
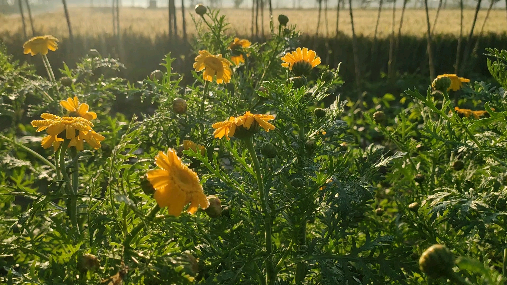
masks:
[[[432,245],[419,258],[419,268],[430,278],[447,276],[454,267],[454,256],[444,245]]]

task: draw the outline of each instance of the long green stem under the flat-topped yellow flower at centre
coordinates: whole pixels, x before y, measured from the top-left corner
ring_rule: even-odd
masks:
[[[264,187],[264,178],[261,173],[261,167],[259,164],[259,159],[257,159],[257,152],[253,148],[252,138],[248,138],[244,140],[248,151],[250,152],[250,157],[253,164],[253,170],[255,170],[256,178],[257,178],[257,186],[259,187],[259,195],[261,197],[261,208],[264,213],[264,231],[266,236],[266,284],[271,285],[274,284],[275,278],[273,276],[273,262],[271,258],[272,251],[272,242],[271,242],[271,211],[268,208],[268,193],[266,188]]]

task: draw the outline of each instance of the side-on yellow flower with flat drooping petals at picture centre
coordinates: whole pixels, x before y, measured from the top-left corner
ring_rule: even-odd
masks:
[[[246,111],[244,115],[237,117],[231,116],[229,120],[213,124],[213,129],[216,129],[213,132],[213,135],[215,138],[219,139],[225,136],[226,139],[230,140],[230,137],[234,136],[238,130],[250,130],[254,123],[257,128],[261,126],[266,132],[269,132],[269,130],[274,130],[275,126],[270,124],[268,120],[272,120],[274,118],[275,116],[273,115],[252,114],[250,111]],[[257,130],[254,130],[253,132],[256,131]]]

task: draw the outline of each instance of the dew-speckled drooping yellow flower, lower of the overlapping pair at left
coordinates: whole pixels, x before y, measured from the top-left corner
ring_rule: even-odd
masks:
[[[41,144],[44,148],[51,145],[55,149],[60,146],[63,138],[58,136],[65,131],[65,139],[69,139],[69,146],[75,146],[78,150],[83,150],[83,142],[86,140],[93,148],[100,148],[100,141],[105,138],[92,130],[93,123],[82,117],[60,117],[50,113],[41,115],[43,120],[33,120],[31,125],[38,127],[37,132],[46,130],[49,136],[42,139]]]

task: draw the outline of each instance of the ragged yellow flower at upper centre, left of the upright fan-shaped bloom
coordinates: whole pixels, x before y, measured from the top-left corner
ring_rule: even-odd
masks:
[[[213,82],[213,76],[216,75],[216,83],[229,83],[231,81],[231,62],[222,58],[221,54],[212,55],[208,51],[199,51],[199,55],[195,57],[195,71],[204,69],[203,78],[209,82]]]

